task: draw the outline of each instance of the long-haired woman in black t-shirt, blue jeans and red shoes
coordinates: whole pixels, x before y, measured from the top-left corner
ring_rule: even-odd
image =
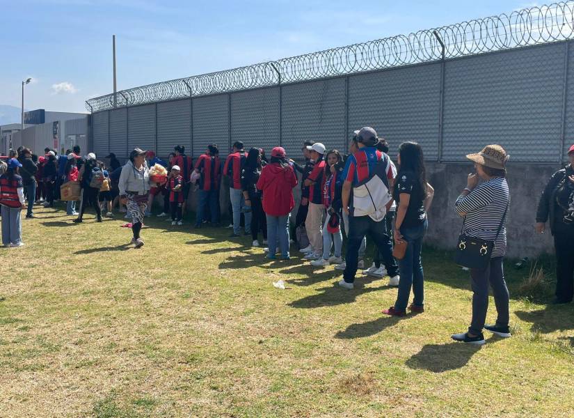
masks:
[[[399,261],[399,291],[394,306],[383,314],[405,316],[413,289],[413,303],[408,309],[415,314],[424,312],[424,273],[422,270],[422,238],[428,228],[426,210],[432,187],[426,183],[426,170],[422,148],[415,142],[399,146],[399,173],[395,180],[392,197],[397,202],[394,223],[393,255]],[[398,251],[401,250],[401,254]]]

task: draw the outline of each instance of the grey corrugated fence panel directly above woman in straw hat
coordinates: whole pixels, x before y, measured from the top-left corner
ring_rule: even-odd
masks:
[[[445,69],[444,160],[462,161],[488,144],[502,145],[514,162],[557,160],[564,45],[456,59]]]

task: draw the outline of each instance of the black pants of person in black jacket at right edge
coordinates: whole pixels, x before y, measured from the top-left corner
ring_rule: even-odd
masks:
[[[556,298],[571,302],[574,296],[574,228],[554,231],[556,249]]]

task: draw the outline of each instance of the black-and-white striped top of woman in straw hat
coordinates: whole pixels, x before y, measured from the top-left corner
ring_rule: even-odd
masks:
[[[483,240],[495,241],[492,257],[502,257],[507,251],[507,215],[496,238],[500,220],[510,201],[508,183],[505,178],[491,178],[466,196],[459,196],[454,208],[459,214],[466,212],[463,233]]]

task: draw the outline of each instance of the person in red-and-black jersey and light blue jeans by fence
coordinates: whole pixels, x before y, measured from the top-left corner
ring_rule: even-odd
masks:
[[[230,180],[229,196],[233,211],[233,232],[232,237],[239,237],[241,232],[241,212],[245,209],[245,199],[241,190],[241,169],[245,164],[247,154],[244,150],[243,142],[237,141],[233,144],[232,153],[228,155],[223,166],[223,174]],[[245,234],[251,233],[251,213],[245,212]]]

